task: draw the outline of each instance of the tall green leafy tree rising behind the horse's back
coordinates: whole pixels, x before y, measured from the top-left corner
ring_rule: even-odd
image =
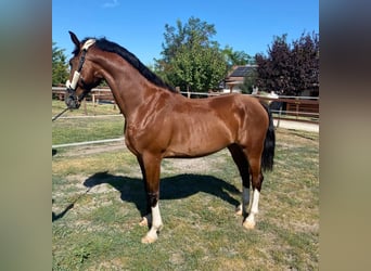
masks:
[[[227,63],[214,25],[190,17],[184,25],[165,25],[163,59],[155,60],[155,72],[182,90],[207,92],[218,86],[227,74]]]

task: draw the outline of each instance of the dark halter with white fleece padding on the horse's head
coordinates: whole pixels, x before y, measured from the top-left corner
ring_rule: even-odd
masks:
[[[95,40],[94,39],[89,39],[87,40],[84,46],[82,46],[82,53],[81,53],[81,57],[78,64],[78,68],[77,70],[75,70],[74,73],[74,77],[73,80],[69,81],[69,79],[66,81],[66,92],[68,93],[68,96],[66,96],[66,103],[68,105],[69,108],[78,108],[79,107],[79,103],[82,101],[82,99],[85,98],[85,95],[87,94],[86,92],[82,92],[79,96],[76,95],[76,89],[77,89],[77,82],[78,79],[80,79],[80,72],[82,69],[84,63],[85,63],[85,56],[88,52],[88,49],[94,44]]]

